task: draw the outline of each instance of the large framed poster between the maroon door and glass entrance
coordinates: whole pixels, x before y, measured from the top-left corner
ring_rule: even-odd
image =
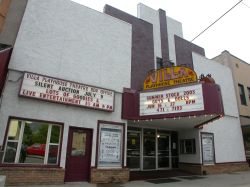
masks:
[[[98,168],[121,168],[123,166],[123,123],[99,121],[97,143]]]

